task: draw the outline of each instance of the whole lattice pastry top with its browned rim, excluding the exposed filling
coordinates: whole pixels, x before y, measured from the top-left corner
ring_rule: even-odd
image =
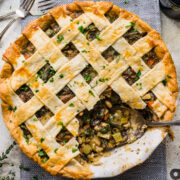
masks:
[[[59,29],[47,32],[50,22]],[[95,39],[84,32],[91,24],[99,32]],[[131,38],[131,28],[141,38]],[[24,51],[27,46],[28,53]],[[76,48],[73,52],[68,50],[72,46]],[[118,54],[115,59],[106,59],[108,48]],[[152,51],[158,57],[155,60],[147,58]],[[108,86],[132,109],[144,109],[144,97],[153,92],[156,100],[151,108],[164,121],[172,119],[176,108],[176,71],[159,33],[111,2],[74,2],[52,9],[25,27],[3,60],[0,96],[4,121],[22,151],[53,175],[92,176],[89,165],[82,166],[75,159],[80,153],[76,115],[93,109]],[[87,65],[97,72],[90,83],[81,73]],[[46,68],[50,68],[48,77],[42,73]],[[125,80],[128,68],[139,72],[136,82]],[[65,86],[74,94],[66,103],[56,96]],[[22,88],[28,97],[18,96]],[[45,121],[37,120],[42,108],[50,112]],[[30,138],[28,132],[23,134],[22,125],[30,131]],[[55,140],[62,126],[74,136],[64,146]]]

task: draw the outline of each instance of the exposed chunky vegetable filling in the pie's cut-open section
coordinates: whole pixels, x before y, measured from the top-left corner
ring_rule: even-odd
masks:
[[[80,161],[92,163],[103,152],[134,142],[147,128],[141,113],[124,104],[110,87],[100,99],[93,110],[85,110],[77,116]]]

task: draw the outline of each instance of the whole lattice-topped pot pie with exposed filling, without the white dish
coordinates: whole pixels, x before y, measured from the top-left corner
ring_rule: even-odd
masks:
[[[3,55],[4,121],[53,175],[88,179],[90,164],[134,142],[176,108],[172,58],[157,31],[111,2],[74,2],[30,22]]]

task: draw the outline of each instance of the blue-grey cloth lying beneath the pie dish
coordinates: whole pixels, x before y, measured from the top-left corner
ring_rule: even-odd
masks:
[[[106,1],[106,0],[104,0]],[[61,3],[72,3],[72,0],[61,0]],[[158,0],[129,0],[128,4],[124,4],[124,0],[114,0],[116,5],[125,8],[132,13],[137,14],[144,21],[149,23],[157,31],[161,31],[160,10]],[[29,21],[36,17],[29,16],[22,21],[24,27]],[[32,180],[34,176],[38,176],[41,180],[65,180],[66,178],[54,177],[45,172],[32,160],[28,159],[24,154],[21,155],[22,165],[30,167],[31,171],[21,170],[21,180]],[[103,178],[104,179],[104,178]],[[166,179],[166,149],[165,145],[161,144],[152,156],[142,165],[134,167],[122,175],[112,180],[165,180]]]

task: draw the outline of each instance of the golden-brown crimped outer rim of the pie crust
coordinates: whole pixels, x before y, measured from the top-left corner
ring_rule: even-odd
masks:
[[[119,14],[119,17],[130,20],[136,23],[138,29],[142,32],[147,32],[150,37],[149,44],[151,46],[155,46],[156,54],[162,59],[162,62],[165,67],[166,76],[170,76],[171,78],[167,81],[167,88],[171,92],[171,99],[169,100],[170,109],[168,109],[164,115],[162,120],[169,121],[172,119],[173,114],[176,109],[176,98],[178,95],[178,84],[177,84],[177,75],[175,66],[172,60],[172,57],[161,40],[159,33],[153,30],[147,23],[142,21],[138,16],[126,11],[125,9],[120,9],[118,6],[113,5],[112,2],[92,2],[92,1],[77,1],[75,3],[69,5],[62,5],[52,9],[49,14],[40,17],[39,19],[30,22],[25,29],[22,31],[23,36],[18,38],[14,43],[10,45],[10,47],[6,50],[3,55],[3,60],[6,61],[4,64],[1,74],[0,74],[0,97],[2,99],[2,113],[3,118],[6,123],[7,128],[11,132],[11,135],[19,144],[21,150],[35,162],[38,162],[44,169],[49,171],[53,175],[63,175],[66,177],[72,177],[75,179],[90,179],[92,173],[90,172],[88,167],[82,167],[77,164],[76,161],[70,161],[63,169],[60,170],[58,166],[50,167],[47,164],[43,164],[40,160],[37,152],[37,144],[31,143],[27,144],[23,138],[22,131],[16,123],[16,119],[14,118],[13,111],[9,110],[9,105],[13,106],[12,99],[12,90],[9,86],[8,82],[13,73],[13,68],[15,69],[17,65],[17,59],[20,57],[20,49],[26,46],[28,43],[28,38],[35,33],[39,27],[44,29],[46,28],[49,21],[52,21],[53,17],[55,20],[60,19],[61,17],[65,18],[68,13],[73,11],[86,11],[94,13],[97,16],[102,16],[109,10],[112,10]]]

